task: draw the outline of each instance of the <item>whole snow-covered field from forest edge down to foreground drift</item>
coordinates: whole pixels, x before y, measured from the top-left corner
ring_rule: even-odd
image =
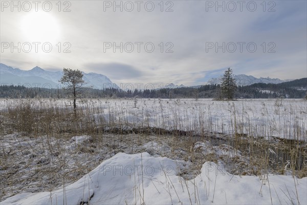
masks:
[[[87,99],[77,122],[68,105],[0,99],[1,204],[307,204],[306,100]]]

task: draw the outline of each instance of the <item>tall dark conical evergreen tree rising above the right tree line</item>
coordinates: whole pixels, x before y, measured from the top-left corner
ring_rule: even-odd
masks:
[[[222,94],[227,99],[231,100],[234,97],[236,91],[235,79],[232,77],[232,69],[228,68],[221,81]]]

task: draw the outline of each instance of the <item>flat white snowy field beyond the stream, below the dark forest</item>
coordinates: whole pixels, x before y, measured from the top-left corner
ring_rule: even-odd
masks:
[[[19,101],[26,101],[19,99]],[[0,110],[19,104],[1,99]],[[33,108],[67,107],[69,100],[32,99]],[[307,100],[304,99],[83,99],[97,125],[128,125],[165,130],[234,134],[307,141]]]

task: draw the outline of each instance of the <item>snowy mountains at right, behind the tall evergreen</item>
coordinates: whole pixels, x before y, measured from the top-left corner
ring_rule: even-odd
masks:
[[[211,78],[207,81],[207,84],[221,84],[223,76],[216,77],[216,78]],[[233,78],[235,79],[236,83],[238,86],[248,86],[252,85],[255,83],[265,83],[265,84],[279,84],[279,83],[284,83],[287,81],[290,81],[290,79],[287,80],[281,80],[278,78],[270,78],[270,77],[260,77],[256,78],[252,75],[233,75]]]

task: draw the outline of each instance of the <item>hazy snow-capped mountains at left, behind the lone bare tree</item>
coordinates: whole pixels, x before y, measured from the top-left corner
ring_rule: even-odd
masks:
[[[86,87],[103,89],[119,88],[105,75],[97,73],[83,73]],[[34,67],[31,70],[20,70],[5,64],[0,64],[0,83],[13,85],[27,85],[27,87],[60,88],[58,80],[62,77],[62,72],[51,72]]]

